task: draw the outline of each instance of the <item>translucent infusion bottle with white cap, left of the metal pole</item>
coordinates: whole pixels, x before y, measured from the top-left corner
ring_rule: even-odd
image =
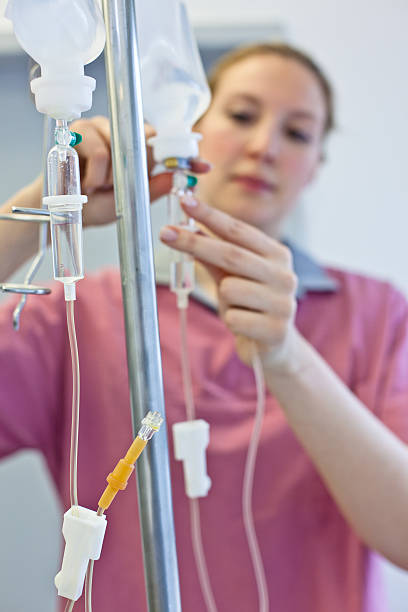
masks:
[[[105,44],[95,0],[9,0],[6,17],[23,49],[41,66],[31,81],[40,113],[71,121],[92,106],[95,79],[84,75]]]

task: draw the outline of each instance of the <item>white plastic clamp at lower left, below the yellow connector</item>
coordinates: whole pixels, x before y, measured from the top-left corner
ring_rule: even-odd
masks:
[[[61,571],[55,576],[60,597],[73,601],[81,597],[89,560],[99,559],[105,530],[106,516],[98,516],[88,508],[72,506],[64,514],[64,558]]]

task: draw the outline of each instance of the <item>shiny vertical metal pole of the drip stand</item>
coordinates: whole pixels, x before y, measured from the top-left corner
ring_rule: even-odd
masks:
[[[112,163],[133,428],[164,415],[134,0],[103,0]],[[137,462],[150,612],[181,610],[165,427]]]

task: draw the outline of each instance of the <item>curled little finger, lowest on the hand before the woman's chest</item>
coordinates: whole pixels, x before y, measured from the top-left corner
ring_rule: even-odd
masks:
[[[233,334],[269,345],[281,344],[292,324],[283,318],[273,318],[267,314],[238,308],[229,308],[223,318]]]

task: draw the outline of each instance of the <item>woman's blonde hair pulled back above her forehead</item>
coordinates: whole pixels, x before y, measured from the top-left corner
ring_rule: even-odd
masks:
[[[294,60],[310,70],[318,80],[326,102],[327,115],[324,125],[324,134],[327,135],[335,127],[334,94],[330,81],[311,57],[303,51],[300,51],[300,49],[285,43],[257,43],[238,47],[237,49],[225,53],[210,70],[208,83],[211,93],[214,95],[220,78],[228,68],[254,55],[278,55],[286,59]]]

